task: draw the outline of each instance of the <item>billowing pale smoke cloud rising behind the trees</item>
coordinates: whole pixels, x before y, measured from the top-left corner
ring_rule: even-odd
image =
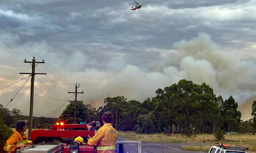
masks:
[[[211,40],[210,35],[203,32],[192,39],[174,43],[172,50],[147,49],[152,50],[159,51],[161,56],[159,60],[152,61],[147,70],[128,65],[122,58],[115,58],[111,60],[106,71],[86,69],[85,72],[69,75],[67,80],[81,83],[79,90],[85,93],[79,94],[78,100],[84,100],[85,104],[91,104],[96,108],[104,105],[104,98],[119,95],[127,97],[128,100],[143,102],[147,97],[154,97],[157,88],[171,86],[180,79],[187,79],[198,84],[209,84],[213,87],[214,93],[217,96],[222,95],[224,100],[232,95],[239,106],[246,106],[241,107],[242,113],[251,111],[251,105],[246,103],[251,103],[256,97],[255,60],[244,60],[237,56],[235,51],[223,51]],[[2,81],[4,79],[0,78],[1,86]],[[73,92],[71,88],[68,90]],[[47,88],[41,91],[45,95],[51,94]],[[3,96],[1,91],[0,96]],[[66,97],[70,96],[71,94],[66,94]],[[29,94],[24,93],[24,98],[29,100]],[[49,102],[47,97],[38,95],[36,91],[35,98],[35,116],[58,117],[68,104],[66,102],[58,109],[63,101]],[[16,102],[16,106],[22,107],[21,102]],[[21,111],[28,115],[27,107]],[[242,114],[244,119],[248,115],[250,116]]]

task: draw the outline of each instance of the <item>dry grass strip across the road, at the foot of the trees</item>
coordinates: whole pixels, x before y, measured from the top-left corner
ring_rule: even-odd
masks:
[[[213,136],[213,134],[197,134],[194,138],[189,138],[186,136],[182,136],[181,134],[136,134],[134,132],[122,132],[118,131],[118,136],[122,138],[126,138],[128,140],[137,140],[137,141],[145,141],[145,142],[160,142],[159,135],[161,135],[161,140],[164,143],[178,143],[178,142],[217,142],[217,139]],[[225,138],[228,139],[228,135],[225,135]],[[229,137],[231,139],[231,137]],[[253,134],[234,134],[232,135],[232,141],[242,142],[256,142],[256,135]]]

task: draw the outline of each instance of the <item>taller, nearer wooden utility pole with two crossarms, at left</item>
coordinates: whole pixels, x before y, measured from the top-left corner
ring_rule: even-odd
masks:
[[[31,89],[30,89],[30,109],[29,109],[29,129],[28,129],[28,140],[31,139],[31,132],[32,132],[32,125],[33,125],[33,105],[34,105],[34,81],[36,74],[46,74],[46,73],[35,73],[36,71],[36,63],[45,63],[43,62],[36,62],[35,56],[33,57],[32,62],[24,61],[24,63],[32,63],[32,73],[19,73],[19,74],[31,74]],[[38,65],[38,64],[37,64]]]

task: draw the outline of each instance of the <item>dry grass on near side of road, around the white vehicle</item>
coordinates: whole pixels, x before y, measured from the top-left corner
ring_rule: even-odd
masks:
[[[225,144],[229,144],[231,146],[236,145],[234,142],[232,142],[232,143],[225,142]],[[237,142],[237,145],[248,147],[249,150],[247,151],[247,153],[255,153],[256,152],[256,143],[254,143],[254,144],[242,143],[241,144],[241,143]],[[182,145],[181,149],[186,150],[186,151],[209,152],[211,146],[215,146],[215,144],[212,143],[212,144],[203,144],[203,145]]]

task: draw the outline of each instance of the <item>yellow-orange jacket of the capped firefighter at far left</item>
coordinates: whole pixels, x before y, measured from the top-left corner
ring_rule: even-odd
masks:
[[[4,146],[5,151],[9,151],[9,153],[16,153],[17,148],[16,145],[18,144],[28,144],[29,141],[25,134],[21,137],[17,130],[14,130],[14,134],[6,141]],[[19,149],[19,148],[18,148]]]

